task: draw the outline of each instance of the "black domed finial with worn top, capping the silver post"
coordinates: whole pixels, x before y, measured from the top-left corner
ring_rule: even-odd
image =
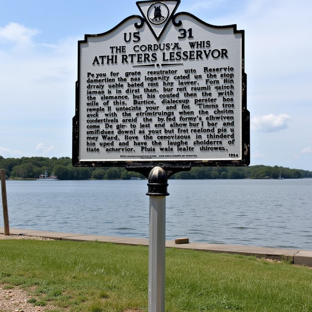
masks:
[[[168,176],[166,171],[161,167],[154,167],[149,173],[149,187],[147,196],[168,196]]]

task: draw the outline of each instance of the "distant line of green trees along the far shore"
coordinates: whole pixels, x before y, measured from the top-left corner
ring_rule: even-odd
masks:
[[[70,157],[22,157],[3,158],[0,156],[0,169],[5,169],[7,178],[37,178],[44,174],[53,173],[60,180],[82,179],[130,179],[143,175],[128,172],[124,168],[85,167],[76,168],[71,165]],[[174,174],[172,179],[285,179],[312,178],[312,171],[290,169],[279,166],[256,165],[249,167],[193,167],[189,172]]]

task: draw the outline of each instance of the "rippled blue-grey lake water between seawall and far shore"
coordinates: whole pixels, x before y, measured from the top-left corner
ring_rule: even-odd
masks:
[[[148,238],[146,183],[10,180],[10,227]],[[168,192],[167,240],[312,249],[312,179],[169,180]]]

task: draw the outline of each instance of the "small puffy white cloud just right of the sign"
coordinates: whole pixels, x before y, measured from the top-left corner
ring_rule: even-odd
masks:
[[[275,132],[286,129],[289,120],[290,116],[287,114],[256,116],[251,119],[251,129],[259,132]]]

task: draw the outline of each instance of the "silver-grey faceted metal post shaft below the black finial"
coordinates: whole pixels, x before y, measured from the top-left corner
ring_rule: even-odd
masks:
[[[165,311],[166,197],[149,197],[149,312]]]

